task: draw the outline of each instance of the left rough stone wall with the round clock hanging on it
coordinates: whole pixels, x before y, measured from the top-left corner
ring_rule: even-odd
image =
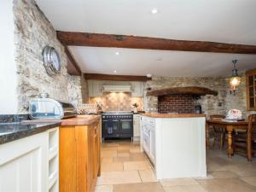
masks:
[[[38,97],[42,91],[56,100],[81,101],[80,77],[67,74],[64,47],[38,5],[33,0],[15,0],[14,16],[18,113],[27,113],[29,100]],[[55,47],[61,57],[61,73],[53,77],[46,73],[42,60],[42,50],[46,45]]]

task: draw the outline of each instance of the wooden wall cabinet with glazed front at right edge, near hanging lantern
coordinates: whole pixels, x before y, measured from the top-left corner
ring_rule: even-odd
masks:
[[[247,71],[247,110],[256,110],[256,69]]]

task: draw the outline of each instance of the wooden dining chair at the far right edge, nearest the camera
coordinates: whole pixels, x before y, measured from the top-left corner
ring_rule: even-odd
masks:
[[[233,151],[236,154],[246,155],[249,161],[253,160],[253,156],[256,154],[256,114],[248,116],[246,132],[234,132]]]

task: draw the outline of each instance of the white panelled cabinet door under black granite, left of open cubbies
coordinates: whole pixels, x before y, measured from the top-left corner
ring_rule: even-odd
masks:
[[[0,145],[0,192],[45,192],[47,133]]]

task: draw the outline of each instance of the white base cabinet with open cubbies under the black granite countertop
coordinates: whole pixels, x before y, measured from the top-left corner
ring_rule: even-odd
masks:
[[[59,191],[59,128],[0,145],[0,192]]]

